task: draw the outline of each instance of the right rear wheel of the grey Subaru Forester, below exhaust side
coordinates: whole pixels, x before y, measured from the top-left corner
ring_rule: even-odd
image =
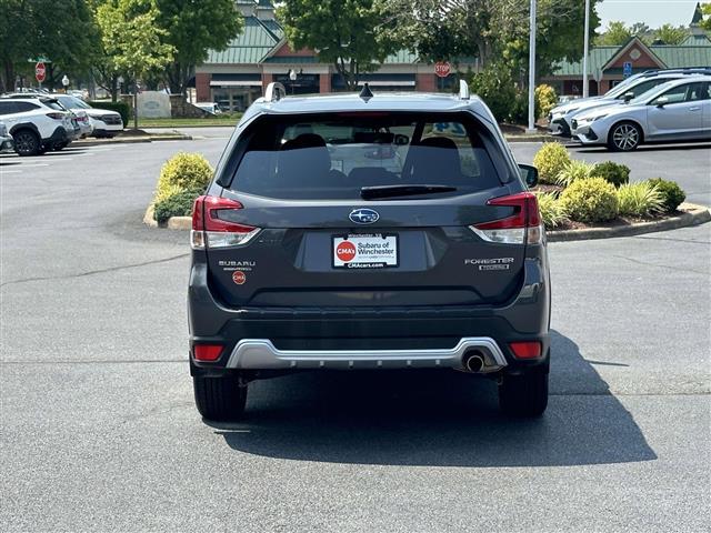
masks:
[[[548,372],[504,375],[499,385],[499,406],[512,416],[540,416],[548,406]]]

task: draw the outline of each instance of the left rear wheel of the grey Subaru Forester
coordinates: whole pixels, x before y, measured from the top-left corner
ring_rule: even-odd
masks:
[[[247,385],[240,385],[237,378],[194,376],[192,386],[196,393],[196,406],[208,420],[238,420],[244,414]]]

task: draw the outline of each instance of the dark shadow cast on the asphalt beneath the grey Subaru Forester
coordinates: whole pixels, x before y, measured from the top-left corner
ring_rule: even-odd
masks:
[[[500,414],[489,380],[383,371],[256,382],[243,422],[208,423],[233,450],[303,461],[543,466],[657,459],[578,346],[552,335],[552,395],[538,420]]]

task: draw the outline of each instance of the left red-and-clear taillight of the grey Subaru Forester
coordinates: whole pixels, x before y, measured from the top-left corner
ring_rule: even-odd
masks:
[[[190,244],[193,250],[228,248],[247,244],[260,228],[238,224],[220,218],[220,212],[243,209],[236,200],[221,197],[199,197],[192,207]]]

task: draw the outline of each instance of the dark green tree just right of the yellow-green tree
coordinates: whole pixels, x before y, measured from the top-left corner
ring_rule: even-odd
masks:
[[[172,92],[184,93],[208,50],[227,48],[242,31],[243,19],[233,0],[157,0],[157,6],[156,22],[167,32],[162,40],[176,50],[166,78]]]

